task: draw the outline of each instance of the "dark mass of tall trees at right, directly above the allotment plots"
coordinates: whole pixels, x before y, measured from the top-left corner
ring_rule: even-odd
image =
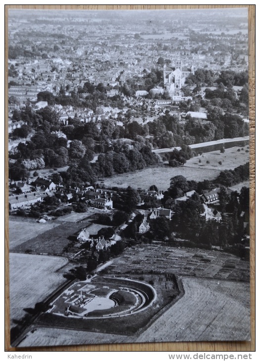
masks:
[[[172,226],[178,236],[188,239],[196,245],[217,245],[222,248],[234,244],[241,244],[245,236],[243,218],[240,217],[241,210],[248,209],[249,188],[242,188],[241,194],[232,192],[229,194],[225,187],[221,187],[219,194],[222,220],[208,220],[201,217],[204,212],[200,198],[194,193],[186,202],[181,202],[175,208]]]

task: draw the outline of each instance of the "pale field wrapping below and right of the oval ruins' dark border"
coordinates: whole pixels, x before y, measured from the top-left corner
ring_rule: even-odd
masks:
[[[249,284],[200,278],[182,283],[184,296],[139,336],[36,325],[19,346],[250,339]]]

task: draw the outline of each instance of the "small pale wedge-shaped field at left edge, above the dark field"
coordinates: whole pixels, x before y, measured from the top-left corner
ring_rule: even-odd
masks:
[[[16,218],[16,220],[14,220]],[[21,217],[12,217],[9,220],[9,248],[12,251],[27,240],[39,236],[46,230],[52,229],[59,224],[55,222],[37,223],[36,220]]]

